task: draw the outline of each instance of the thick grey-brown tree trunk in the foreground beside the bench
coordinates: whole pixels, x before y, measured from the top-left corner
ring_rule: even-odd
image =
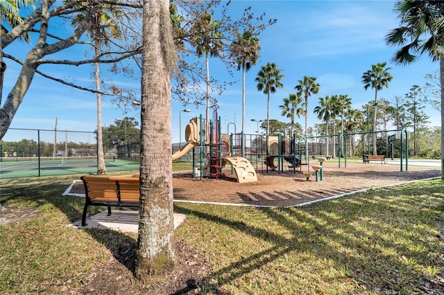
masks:
[[[175,258],[171,161],[171,72],[175,52],[168,0],[144,0],[139,237],[135,276],[162,280]]]

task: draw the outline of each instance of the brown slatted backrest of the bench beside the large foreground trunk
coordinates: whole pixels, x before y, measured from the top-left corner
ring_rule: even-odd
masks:
[[[80,177],[89,198],[139,199],[139,179],[133,177]]]

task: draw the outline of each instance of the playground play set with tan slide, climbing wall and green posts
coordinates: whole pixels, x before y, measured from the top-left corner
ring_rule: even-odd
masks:
[[[280,134],[222,134],[220,118],[216,115],[210,123],[202,116],[191,119],[185,127],[185,141],[172,159],[178,160],[192,152],[193,175],[200,179],[218,179],[226,164],[230,164],[239,183],[257,181],[257,170],[296,173],[297,169],[302,172],[302,166],[310,169],[305,142],[301,144],[296,138],[284,138]]]

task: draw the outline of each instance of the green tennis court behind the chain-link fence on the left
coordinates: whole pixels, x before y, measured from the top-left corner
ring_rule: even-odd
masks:
[[[105,157],[108,172],[138,171],[139,162]],[[3,157],[0,179],[54,175],[96,174],[97,157]]]

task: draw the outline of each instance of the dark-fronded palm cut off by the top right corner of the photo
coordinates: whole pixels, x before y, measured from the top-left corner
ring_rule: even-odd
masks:
[[[393,56],[397,64],[411,64],[428,53],[441,72],[441,179],[444,180],[444,6],[441,1],[403,0],[395,3],[400,27],[386,35],[386,44],[402,46]]]

